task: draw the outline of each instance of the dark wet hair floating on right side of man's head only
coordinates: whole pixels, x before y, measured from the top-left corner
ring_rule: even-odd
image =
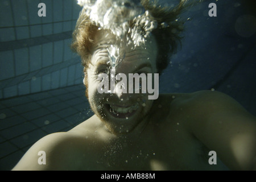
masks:
[[[177,51],[179,44],[181,45],[180,34],[183,31],[184,22],[178,20],[178,16],[184,9],[185,0],[180,0],[179,5],[174,8],[161,7],[150,2],[142,1],[142,5],[158,22],[158,28],[152,31],[152,35],[154,35],[158,46],[156,68],[160,74],[168,66],[171,55]]]

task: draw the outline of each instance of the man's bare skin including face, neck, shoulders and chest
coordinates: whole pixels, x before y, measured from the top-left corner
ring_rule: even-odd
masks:
[[[143,104],[147,94],[99,94],[97,74],[108,67],[107,38],[112,39],[96,36],[84,80],[95,115],[67,133],[40,139],[14,170],[256,169],[256,119],[223,93],[160,94]],[[126,48],[115,71],[156,73],[155,46],[151,39],[147,49]],[[113,105],[122,112],[138,107],[125,119],[110,113]],[[39,151],[46,152],[46,165],[38,164]],[[208,163],[209,151],[216,151],[216,165]]]

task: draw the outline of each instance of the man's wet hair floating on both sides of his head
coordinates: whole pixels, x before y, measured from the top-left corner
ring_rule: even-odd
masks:
[[[177,19],[184,9],[185,1],[180,0],[176,7],[162,7],[156,1],[141,0],[144,9],[158,23],[158,27],[151,32],[158,46],[158,55],[156,57],[158,73],[161,73],[167,67],[170,56],[176,52],[177,46],[180,44],[183,22]],[[88,68],[92,56],[93,39],[98,27],[89,19],[85,11],[85,9],[82,9],[80,12],[75,31],[73,31],[71,48],[81,56],[86,76],[86,68]],[[133,24],[134,22],[130,22],[130,26],[133,26]]]

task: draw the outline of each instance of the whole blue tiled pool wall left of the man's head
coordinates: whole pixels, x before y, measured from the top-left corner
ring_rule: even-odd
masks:
[[[69,48],[80,10],[71,0],[0,2],[0,99],[81,83],[80,59]]]

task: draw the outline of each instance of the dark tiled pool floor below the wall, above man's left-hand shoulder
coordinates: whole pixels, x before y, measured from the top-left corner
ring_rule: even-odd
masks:
[[[0,100],[0,169],[10,170],[36,141],[92,116],[83,85]]]

